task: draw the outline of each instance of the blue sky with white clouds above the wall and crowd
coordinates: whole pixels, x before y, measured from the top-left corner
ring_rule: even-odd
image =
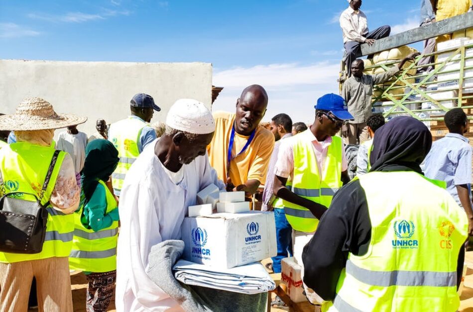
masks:
[[[234,110],[263,85],[265,120],[280,112],[312,122],[313,105],[338,92],[346,0],[0,0],[0,59],[208,62],[225,89],[214,109]],[[374,29],[418,25],[420,1],[365,0]],[[417,45],[419,47],[419,45]]]

